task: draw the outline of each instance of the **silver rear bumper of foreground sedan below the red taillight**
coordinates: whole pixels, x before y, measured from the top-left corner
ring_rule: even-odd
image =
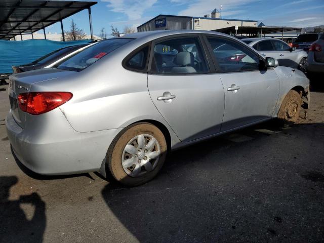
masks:
[[[31,171],[42,175],[99,171],[111,141],[121,129],[79,133],[68,123],[67,125],[35,134],[34,131],[28,132],[27,129],[19,127],[11,111],[6,118],[8,138],[13,151],[20,162]],[[57,136],[53,137],[53,134]]]

